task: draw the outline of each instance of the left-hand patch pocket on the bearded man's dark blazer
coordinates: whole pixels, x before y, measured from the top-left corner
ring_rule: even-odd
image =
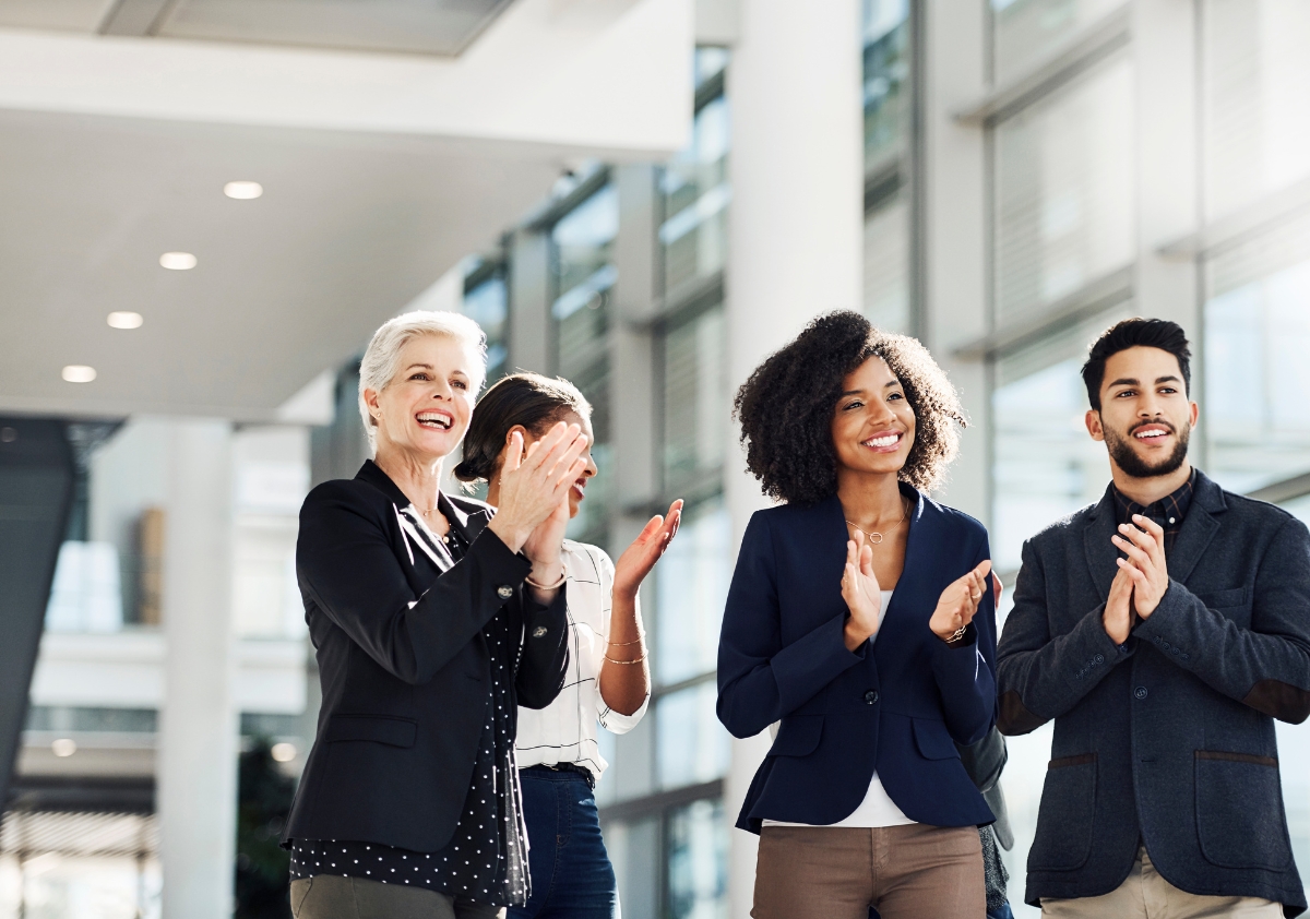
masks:
[[[1028,871],[1074,871],[1091,855],[1096,818],[1096,754],[1060,757],[1047,765],[1038,831]]]

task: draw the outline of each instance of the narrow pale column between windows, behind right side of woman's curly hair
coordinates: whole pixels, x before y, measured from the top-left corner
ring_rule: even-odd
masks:
[[[952,350],[988,330],[988,175],[985,134],[963,126],[954,113],[986,88],[984,4],[930,0],[914,25],[922,60],[922,220],[924,344],[950,374],[969,415],[960,456],[938,499],[988,520],[990,514],[986,435],[986,365],[962,361]]]

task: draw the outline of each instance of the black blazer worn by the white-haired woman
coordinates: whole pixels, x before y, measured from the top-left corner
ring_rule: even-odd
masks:
[[[491,509],[447,495],[441,511],[470,545],[443,569],[406,534],[409,504],[369,461],[300,509],[296,575],[324,698],[284,843],[443,848],[472,782],[491,666],[516,670],[511,691],[528,708],[563,686],[565,592],[549,607],[525,598],[532,564],[486,529]],[[481,631],[507,604],[521,644],[493,661]]]

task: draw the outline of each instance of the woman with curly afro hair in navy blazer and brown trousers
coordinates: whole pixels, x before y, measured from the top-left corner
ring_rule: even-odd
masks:
[[[994,721],[996,593],[986,530],[927,496],[955,390],[922,344],[837,312],[735,408],[779,501],[747,526],[719,640],[719,720],[781,721],[738,818],[760,834],[751,915],[980,919],[994,817],[956,744]]]

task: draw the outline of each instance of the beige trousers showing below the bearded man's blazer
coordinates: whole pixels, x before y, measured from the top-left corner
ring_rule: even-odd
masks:
[[[1057,919],[1282,919],[1282,907],[1258,897],[1200,897],[1161,877],[1146,848],[1128,880],[1100,897],[1041,898],[1041,915]]]

